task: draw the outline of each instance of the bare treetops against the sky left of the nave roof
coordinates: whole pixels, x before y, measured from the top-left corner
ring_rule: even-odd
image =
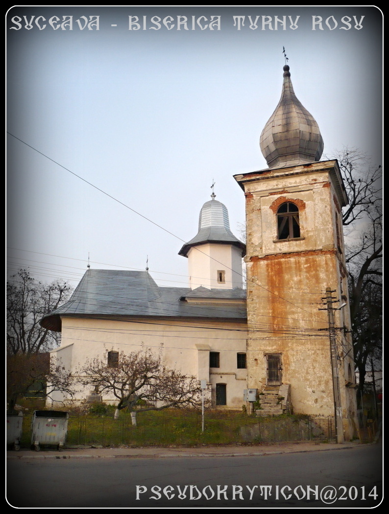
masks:
[[[40,325],[45,314],[66,301],[73,288],[66,282],[43,284],[26,269],[7,281],[7,353],[34,354],[58,345],[58,334]]]

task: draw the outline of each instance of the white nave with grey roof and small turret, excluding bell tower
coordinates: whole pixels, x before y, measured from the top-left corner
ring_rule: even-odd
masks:
[[[68,302],[42,319],[61,331],[51,352],[76,372],[86,359],[152,348],[171,369],[206,380],[219,408],[241,409],[246,388],[245,245],[229,228],[226,207],[211,195],[199,231],[180,250],[189,287],[160,287],[148,270],[88,269]],[[90,394],[84,390],[77,400]],[[62,400],[62,394],[54,397]],[[113,398],[104,397],[104,400]]]

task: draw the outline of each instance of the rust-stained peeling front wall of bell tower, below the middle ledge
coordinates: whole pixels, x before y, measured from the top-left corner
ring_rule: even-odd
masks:
[[[282,382],[291,384],[297,413],[333,414],[328,331],[318,330],[328,328],[326,311],[318,309],[328,277],[334,276],[333,264],[331,253],[247,263],[247,275],[262,286],[248,287],[247,323],[266,331],[247,342],[247,387],[266,386],[264,356],[281,353]]]

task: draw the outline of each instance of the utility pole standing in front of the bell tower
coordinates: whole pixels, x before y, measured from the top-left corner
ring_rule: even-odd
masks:
[[[337,340],[335,336],[335,323],[333,318],[333,307],[332,307],[332,292],[331,288],[326,288],[326,303],[328,312],[328,328],[329,328],[329,340],[330,340],[330,351],[331,351],[331,368],[332,368],[332,388],[333,388],[333,406],[335,412],[335,431],[337,434],[337,443],[344,443],[343,435],[343,419],[342,419],[342,405],[339,388],[339,370],[338,370],[338,350]]]

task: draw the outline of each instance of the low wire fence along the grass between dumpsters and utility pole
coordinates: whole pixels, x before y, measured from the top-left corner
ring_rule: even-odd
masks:
[[[30,438],[28,416],[24,419],[24,446]],[[326,440],[335,436],[332,416],[205,416],[204,433],[201,415],[147,418],[138,416],[137,427],[131,417],[123,415],[70,415],[66,445],[95,446],[164,446],[197,444],[260,444],[306,440]]]

